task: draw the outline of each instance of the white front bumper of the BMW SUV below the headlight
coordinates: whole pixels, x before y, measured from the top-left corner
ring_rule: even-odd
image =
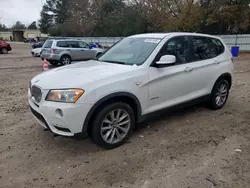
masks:
[[[35,119],[46,129],[62,136],[82,133],[85,118],[91,109],[89,104],[34,102],[29,91],[29,105]],[[62,111],[63,116],[58,113]]]

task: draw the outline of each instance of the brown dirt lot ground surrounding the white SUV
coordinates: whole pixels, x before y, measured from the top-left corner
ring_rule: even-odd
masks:
[[[0,55],[0,187],[250,187],[250,55],[237,61],[224,109],[199,105],[162,115],[124,146],[103,150],[38,125],[27,87],[41,61],[29,57],[28,45],[12,47]]]

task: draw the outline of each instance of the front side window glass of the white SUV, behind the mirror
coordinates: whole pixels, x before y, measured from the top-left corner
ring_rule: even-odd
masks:
[[[160,50],[156,61],[159,61],[164,55],[174,55],[176,57],[176,64],[189,62],[188,38],[175,37],[168,40]]]

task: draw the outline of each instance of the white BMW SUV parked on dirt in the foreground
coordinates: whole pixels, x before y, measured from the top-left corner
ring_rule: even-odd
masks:
[[[103,148],[124,143],[137,122],[195,99],[222,108],[232,84],[231,53],[217,37],[196,33],[127,37],[96,60],[34,77],[34,117],[63,136],[87,133]]]

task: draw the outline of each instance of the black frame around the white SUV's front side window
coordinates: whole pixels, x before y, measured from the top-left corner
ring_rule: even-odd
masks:
[[[156,59],[158,58],[158,56],[159,56],[159,54],[160,54],[160,51],[168,44],[169,41],[171,41],[171,40],[173,40],[173,39],[175,39],[175,38],[180,38],[180,37],[182,37],[182,38],[187,38],[187,39],[188,39],[188,54],[189,54],[188,56],[190,56],[189,51],[190,51],[190,47],[191,47],[191,36],[190,36],[190,35],[179,35],[179,36],[174,36],[174,37],[169,38],[169,39],[163,44],[163,46],[161,47],[161,49],[159,50],[159,52],[157,53],[157,55],[155,56],[154,60],[152,61],[152,63],[150,64],[149,67],[165,68],[165,67],[173,67],[173,66],[178,66],[178,65],[184,65],[184,64],[192,63],[192,61],[190,61],[190,62],[186,62],[186,63],[182,63],[182,64],[180,64],[180,63],[175,63],[174,65],[161,65],[160,67],[156,64],[156,62],[157,62]],[[189,57],[189,58],[190,58],[190,57]],[[190,58],[190,59],[191,59],[191,58]]]

